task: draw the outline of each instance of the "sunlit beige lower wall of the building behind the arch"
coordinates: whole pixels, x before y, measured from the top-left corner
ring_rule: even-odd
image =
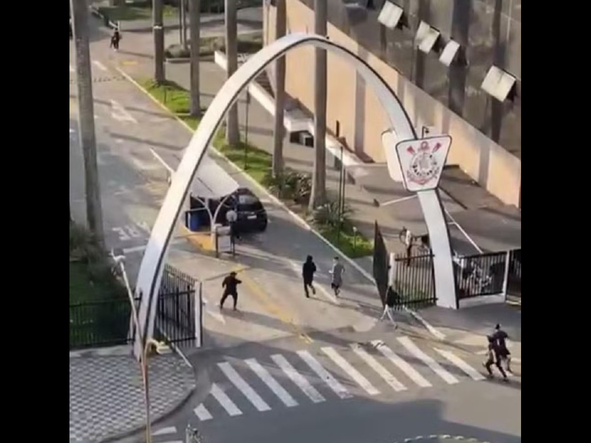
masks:
[[[275,8],[264,8],[265,40],[274,40]],[[267,11],[268,9],[268,11]],[[314,13],[298,0],[287,0],[287,32],[313,32]],[[328,25],[331,40],[366,60],[392,87],[416,128],[434,126],[452,136],[448,164],[457,164],[480,185],[504,203],[519,204],[521,160],[497,145],[478,129],[447,109],[426,92],[402,77],[373,54]],[[327,125],[350,148],[365,152],[376,162],[385,162],[381,133],[389,128],[384,111],[372,90],[366,89],[355,69],[339,56],[328,54]],[[287,55],[285,88],[311,112],[314,111],[314,49],[297,48]],[[361,82],[361,83],[357,83]]]

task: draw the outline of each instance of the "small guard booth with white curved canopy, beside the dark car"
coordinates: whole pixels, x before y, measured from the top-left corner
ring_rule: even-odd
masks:
[[[228,172],[210,157],[203,158],[184,211],[183,227],[191,245],[216,255],[233,252],[230,230],[219,220],[219,213],[238,188],[238,182]]]

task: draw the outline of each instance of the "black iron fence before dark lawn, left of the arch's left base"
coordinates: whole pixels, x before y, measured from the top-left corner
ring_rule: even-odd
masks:
[[[135,299],[139,308],[140,299]],[[70,350],[131,343],[129,299],[118,297],[70,305]]]

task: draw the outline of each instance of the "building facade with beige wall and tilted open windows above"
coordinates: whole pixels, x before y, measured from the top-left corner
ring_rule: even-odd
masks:
[[[314,0],[286,2],[287,32],[313,32]],[[264,2],[265,43],[275,40],[274,3]],[[521,207],[521,0],[327,0],[327,6],[329,38],[387,80],[417,132],[449,133],[448,164]],[[313,51],[286,56],[286,92],[310,113]],[[389,125],[378,100],[352,67],[327,57],[329,132],[338,122],[349,149],[384,162],[381,133]]]

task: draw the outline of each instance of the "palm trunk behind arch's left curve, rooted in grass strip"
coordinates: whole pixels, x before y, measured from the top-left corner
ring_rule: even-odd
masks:
[[[226,21],[226,58],[228,67],[226,76],[229,79],[238,69],[238,15],[236,0],[224,1],[224,16]],[[238,103],[234,103],[228,110],[226,118],[226,141],[230,146],[238,146],[240,133],[238,132]]]

